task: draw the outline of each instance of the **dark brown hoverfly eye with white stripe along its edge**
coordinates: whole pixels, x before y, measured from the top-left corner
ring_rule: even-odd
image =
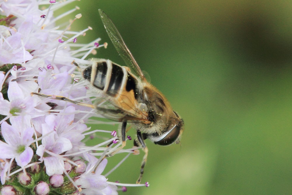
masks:
[[[154,144],[158,144],[161,146],[170,145],[178,139],[179,135],[180,135],[180,126],[169,125],[168,130],[166,130],[166,132],[164,132],[163,134],[155,138]]]

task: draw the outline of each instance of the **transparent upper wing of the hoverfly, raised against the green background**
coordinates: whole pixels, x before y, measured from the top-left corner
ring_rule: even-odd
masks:
[[[131,68],[131,72],[133,72],[135,75],[139,76],[144,82],[146,82],[147,80],[146,80],[142,70],[138,66],[136,60],[134,59],[134,57],[131,54],[128,47],[126,46],[123,38],[121,37],[121,34],[119,33],[119,31],[115,27],[112,20],[101,9],[99,9],[98,11],[99,11],[102,23],[105,26],[105,30],[107,31],[109,38],[111,39],[112,43],[114,44],[114,47],[117,49],[121,58],[123,58],[126,65],[129,68]]]

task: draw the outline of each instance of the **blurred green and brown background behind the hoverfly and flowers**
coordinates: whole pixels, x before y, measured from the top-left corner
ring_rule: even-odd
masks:
[[[82,0],[68,7],[75,4],[83,16],[72,28],[93,27],[82,42],[109,43],[95,57],[124,65],[102,9],[185,120],[181,146],[147,140],[142,182],[150,187],[125,194],[292,193],[292,1]],[[135,183],[141,154],[109,181]],[[108,170],[123,157],[108,158]]]

